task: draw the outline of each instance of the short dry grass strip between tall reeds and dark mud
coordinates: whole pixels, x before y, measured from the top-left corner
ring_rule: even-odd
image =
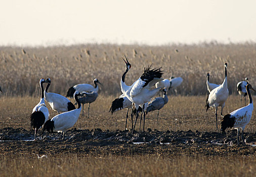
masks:
[[[253,97],[256,100],[256,97]],[[74,125],[80,129],[101,128],[102,130],[123,130],[125,126],[126,109],[109,113],[112,96],[100,95],[98,99],[91,104],[90,118],[80,115]],[[198,130],[198,131],[216,131],[215,110],[205,112],[205,96],[169,96],[169,102],[160,110],[159,123],[157,124],[157,111],[147,115],[145,127],[151,129],[165,130]],[[2,97],[0,100],[0,128],[3,127],[23,127],[29,129],[29,116],[31,111],[39,101],[38,97]],[[71,100],[74,101],[73,99]],[[50,118],[57,115],[48,103]],[[240,103],[239,96],[229,96],[223,113],[227,114],[235,109],[244,106]],[[84,106],[84,115],[87,115],[88,104]],[[219,119],[221,121],[219,109]],[[220,123],[219,121],[219,123]],[[139,123],[137,124],[139,126]],[[127,122],[128,128],[131,128],[131,118]],[[253,110],[250,123],[246,126],[245,132],[256,131],[255,109]]]

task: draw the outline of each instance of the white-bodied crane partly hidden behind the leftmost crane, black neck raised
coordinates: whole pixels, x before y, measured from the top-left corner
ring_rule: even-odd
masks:
[[[45,100],[49,103],[53,110],[60,112],[67,112],[75,109],[73,103],[71,103],[66,97],[56,93],[48,93],[49,86],[51,84],[51,79],[47,78],[46,82],[48,83],[45,90]]]

